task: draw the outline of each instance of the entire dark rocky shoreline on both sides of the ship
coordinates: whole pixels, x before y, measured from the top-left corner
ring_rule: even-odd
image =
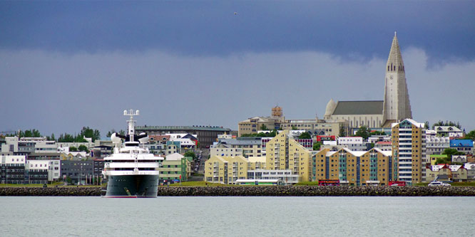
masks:
[[[101,187],[0,187],[0,196],[101,196]],[[475,196],[475,187],[160,186],[158,196]]]

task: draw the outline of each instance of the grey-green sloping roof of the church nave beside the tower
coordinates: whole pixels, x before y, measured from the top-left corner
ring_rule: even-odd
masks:
[[[333,115],[382,115],[382,100],[339,101]]]

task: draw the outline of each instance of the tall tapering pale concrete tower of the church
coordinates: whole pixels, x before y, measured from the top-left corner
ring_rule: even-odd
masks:
[[[396,32],[392,39],[391,51],[386,64],[386,79],[384,85],[383,121],[386,125],[412,118],[409,93],[407,92],[406,73],[402,61],[401,50],[397,42]]]

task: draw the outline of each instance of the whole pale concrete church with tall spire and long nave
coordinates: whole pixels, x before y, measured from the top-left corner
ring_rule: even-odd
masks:
[[[324,118],[347,120],[349,127],[391,127],[392,122],[412,119],[404,62],[395,32],[385,70],[384,100],[331,99]]]

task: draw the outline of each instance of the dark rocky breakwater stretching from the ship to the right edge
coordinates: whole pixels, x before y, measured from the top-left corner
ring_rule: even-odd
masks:
[[[472,186],[181,186],[158,196],[475,196]]]

